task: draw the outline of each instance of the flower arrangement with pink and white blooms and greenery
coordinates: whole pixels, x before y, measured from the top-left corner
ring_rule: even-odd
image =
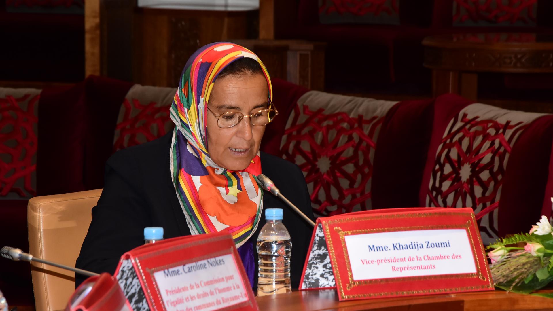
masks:
[[[546,216],[529,233],[515,234],[487,247],[496,287],[531,293],[553,281],[553,226]]]

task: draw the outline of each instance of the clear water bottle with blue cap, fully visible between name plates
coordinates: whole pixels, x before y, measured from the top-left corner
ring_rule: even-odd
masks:
[[[259,263],[257,296],[288,293],[290,285],[290,256],[292,242],[282,223],[282,209],[266,209],[263,226],[257,237]]]

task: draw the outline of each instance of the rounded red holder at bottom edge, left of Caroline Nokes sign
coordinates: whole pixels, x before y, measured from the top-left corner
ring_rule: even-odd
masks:
[[[65,311],[132,311],[117,280],[102,273],[87,278],[71,295]]]

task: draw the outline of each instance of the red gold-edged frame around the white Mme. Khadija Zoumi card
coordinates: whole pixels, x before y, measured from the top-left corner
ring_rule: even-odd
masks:
[[[315,226],[311,237],[307,258],[311,253],[315,232],[319,225],[322,225],[324,232],[340,300],[492,291],[494,289],[486,252],[484,252],[474,212],[470,208],[384,209],[320,217],[317,219],[317,226]],[[447,229],[466,230],[476,273],[353,279],[352,265],[349,262],[350,257],[345,242],[346,236],[380,232]],[[456,251],[456,248],[451,248],[450,251]],[[307,263],[306,260],[300,284],[304,282]],[[421,263],[418,263],[418,265],[421,265]]]

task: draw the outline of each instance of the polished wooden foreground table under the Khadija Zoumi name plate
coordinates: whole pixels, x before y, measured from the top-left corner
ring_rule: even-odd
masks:
[[[553,291],[542,291],[553,292]],[[553,310],[553,299],[507,293],[504,291],[472,292],[399,298],[379,298],[338,302],[333,289],[296,291],[259,297],[259,310],[385,310],[385,311],[464,311],[464,310]]]

